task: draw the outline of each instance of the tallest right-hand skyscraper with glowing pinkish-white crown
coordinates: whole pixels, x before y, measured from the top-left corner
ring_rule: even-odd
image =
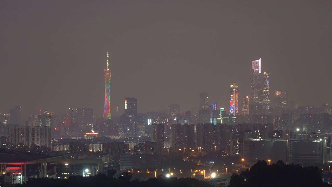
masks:
[[[251,62],[251,98],[252,104],[258,104],[261,88],[261,59]]]

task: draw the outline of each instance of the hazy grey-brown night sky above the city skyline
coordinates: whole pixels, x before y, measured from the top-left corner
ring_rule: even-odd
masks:
[[[332,1],[0,1],[0,112],[93,107],[102,116],[110,53],[111,113],[180,112],[199,93],[228,107],[229,83],[250,95],[251,61],[271,96],[332,104]],[[273,104],[273,102],[272,102]],[[330,104],[330,105],[331,105]]]

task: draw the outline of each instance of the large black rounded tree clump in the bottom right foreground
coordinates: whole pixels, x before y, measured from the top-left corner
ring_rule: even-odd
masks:
[[[323,186],[321,174],[317,166],[286,165],[282,160],[268,165],[266,161],[259,160],[250,171],[233,174],[228,187],[318,187]]]

